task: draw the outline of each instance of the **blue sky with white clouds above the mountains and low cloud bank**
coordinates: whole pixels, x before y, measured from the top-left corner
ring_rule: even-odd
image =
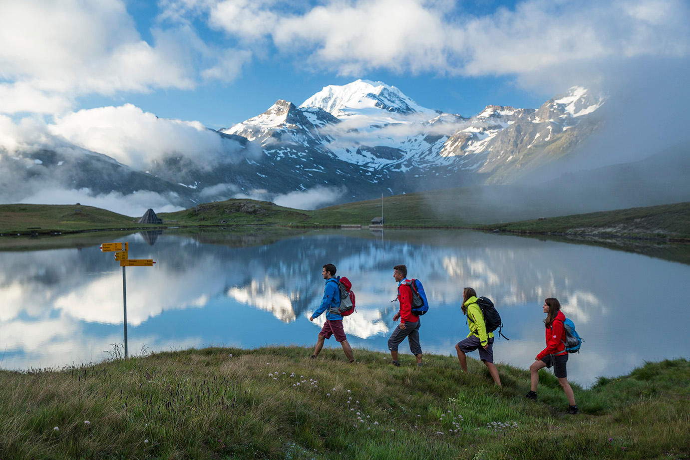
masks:
[[[686,68],[689,20],[684,0],[0,2],[0,117],[130,103],[221,128],[357,78],[465,116],[536,108],[646,59]]]

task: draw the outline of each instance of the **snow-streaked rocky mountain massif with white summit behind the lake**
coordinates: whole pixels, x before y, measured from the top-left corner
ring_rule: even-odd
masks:
[[[137,172],[143,174],[137,181],[177,201],[274,200],[312,190],[328,197],[322,205],[382,192],[513,183],[573,151],[600,126],[597,110],[603,103],[602,97],[575,87],[536,110],[486,106],[463,117],[424,108],[395,86],[357,80],[326,86],[299,107],[279,99],[262,114],[217,131],[244,149],[242,161],[220,161],[209,168],[170,152]],[[58,180],[66,188],[77,182],[104,192],[110,186],[120,192],[132,188],[99,177],[88,166],[93,161],[73,161],[72,169],[83,180],[56,177],[63,177]],[[80,168],[86,172],[79,173]],[[126,168],[118,163],[115,169],[130,177]]]

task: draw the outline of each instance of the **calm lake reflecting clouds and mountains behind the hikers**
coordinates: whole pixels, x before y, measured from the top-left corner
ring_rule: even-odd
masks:
[[[457,230],[285,232],[104,236],[129,241],[132,259],[157,261],[127,269],[130,353],[311,346],[324,321],[308,321],[323,294],[321,267],[333,262],[357,294],[357,312],[344,321],[355,357],[357,348],[387,351],[398,263],[424,281],[431,303],[420,329],[425,352],[454,354],[467,334],[462,288],[471,286],[493,299],[511,339],[496,341],[497,361],[527,368],[544,348],[546,297],[560,299],[585,339],[569,361],[573,381],[690,355],[686,334],[664,328],[690,321],[690,266],[682,263]],[[99,361],[122,342],[121,269],[89,238],[79,248],[0,252],[2,368]],[[333,339],[326,344],[340,353]],[[400,351],[412,361],[406,342]]]

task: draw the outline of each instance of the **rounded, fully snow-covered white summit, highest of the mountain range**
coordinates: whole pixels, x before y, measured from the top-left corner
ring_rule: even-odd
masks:
[[[435,112],[417,104],[395,86],[382,81],[358,79],[346,85],[328,85],[304,101],[301,108],[317,107],[337,118],[359,114],[388,112],[388,114],[412,114]]]

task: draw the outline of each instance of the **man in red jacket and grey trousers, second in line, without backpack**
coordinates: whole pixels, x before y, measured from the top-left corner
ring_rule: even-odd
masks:
[[[405,337],[410,343],[410,351],[417,358],[417,366],[422,366],[422,346],[420,345],[420,317],[412,313],[412,288],[411,281],[406,279],[407,267],[397,265],[393,267],[393,279],[397,281],[397,300],[400,301],[400,310],[393,317],[393,321],[400,319],[400,326],[397,326],[388,339],[388,350],[391,350],[393,365],[400,366],[397,360],[397,346],[400,345]]]

